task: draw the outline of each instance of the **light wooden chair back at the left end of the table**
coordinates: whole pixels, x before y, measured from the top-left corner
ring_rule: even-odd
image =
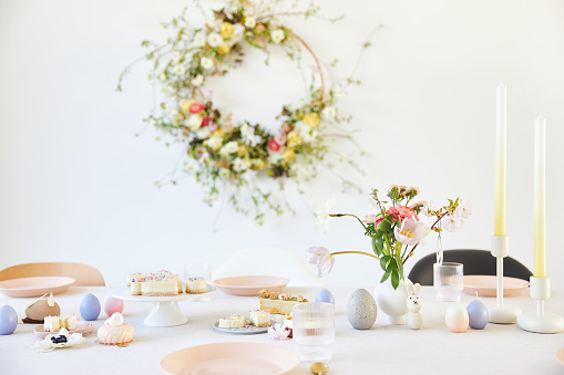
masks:
[[[0,271],[0,281],[32,277],[69,277],[75,280],[73,287],[105,287],[102,273],[92,265],[82,263],[25,263]]]

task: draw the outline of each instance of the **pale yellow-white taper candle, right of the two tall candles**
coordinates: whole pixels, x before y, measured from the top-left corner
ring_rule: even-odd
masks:
[[[534,122],[534,263],[533,275],[546,278],[545,242],[545,164],[546,164],[546,119],[536,117]]]

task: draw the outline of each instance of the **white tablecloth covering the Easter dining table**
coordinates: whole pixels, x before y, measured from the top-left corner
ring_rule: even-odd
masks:
[[[79,314],[85,293],[103,303],[109,288],[71,288],[55,295],[63,314]],[[423,327],[412,331],[406,325],[388,325],[379,312],[369,331],[353,330],[346,306],[353,288],[330,288],[336,298],[336,343],[329,374],[562,374],[564,366],[555,360],[564,348],[564,334],[535,334],[513,325],[489,324],[485,330],[451,333],[444,324],[447,302],[437,302],[432,288],[422,291]],[[317,288],[287,288],[291,294],[315,299]],[[371,291],[372,292],[372,291]],[[10,299],[0,295],[23,317],[25,306],[34,299]],[[464,295],[468,304],[472,296]],[[494,304],[494,299],[482,299]],[[529,291],[506,298],[505,302],[534,308]],[[95,332],[76,347],[37,353],[33,325],[18,324],[11,335],[0,335],[0,374],[161,374],[161,360],[167,354],[194,345],[218,342],[258,342],[295,348],[291,340],[274,342],[266,334],[234,335],[219,333],[212,325],[218,317],[258,309],[257,298],[233,296],[218,292],[206,302],[180,302],[188,323],[173,327],[151,327],[143,320],[151,303],[125,302],[125,321],[135,327],[135,341],[127,347],[95,344]],[[564,314],[564,295],[553,292],[546,310]],[[105,314],[95,321],[100,327]],[[301,363],[291,374],[310,374]]]

